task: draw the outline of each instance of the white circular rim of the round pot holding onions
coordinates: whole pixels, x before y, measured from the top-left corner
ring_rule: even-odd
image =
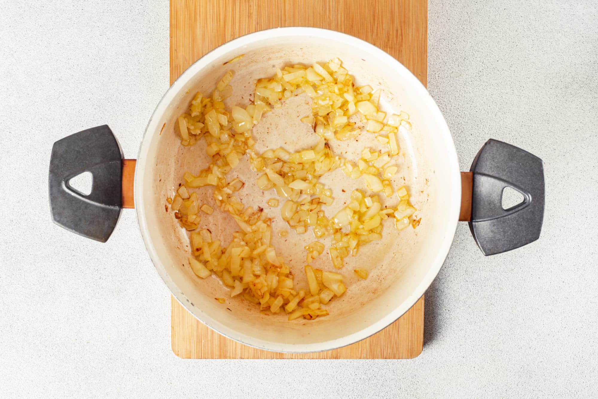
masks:
[[[332,340],[324,340],[322,342],[316,343],[309,343],[309,344],[289,344],[289,343],[277,343],[271,342],[267,340],[256,339],[255,337],[246,336],[245,334],[230,329],[229,327],[225,326],[224,324],[219,323],[218,320],[214,318],[208,317],[205,314],[202,314],[203,318],[198,317],[196,314],[198,311],[201,313],[201,309],[196,308],[195,306],[191,306],[189,300],[185,297],[184,293],[182,293],[178,286],[172,281],[169,277],[166,269],[161,264],[160,260],[158,259],[157,253],[155,251],[154,245],[149,238],[148,233],[148,225],[147,220],[145,219],[145,200],[144,200],[144,179],[142,178],[145,173],[145,164],[147,162],[147,154],[149,151],[149,142],[151,141],[151,134],[154,131],[159,130],[158,128],[158,121],[160,120],[161,115],[166,111],[167,106],[172,102],[172,100],[178,95],[179,91],[184,87],[184,84],[197,72],[203,69],[206,66],[209,66],[213,60],[218,59],[219,57],[227,54],[230,51],[234,51],[238,48],[242,48],[244,45],[250,44],[255,41],[262,41],[264,39],[272,38],[272,37],[286,37],[286,36],[311,36],[316,38],[322,39],[335,39],[341,42],[351,42],[355,47],[358,47],[359,50],[364,51],[364,53],[368,53],[370,56],[376,57],[381,62],[388,64],[392,69],[398,70],[402,73],[402,75],[407,75],[408,79],[411,79],[415,86],[417,87],[416,90],[422,91],[422,94],[425,94],[427,107],[429,108],[429,112],[432,118],[437,119],[437,124],[441,127],[438,133],[441,134],[441,137],[444,137],[444,141],[446,142],[446,155],[447,161],[449,163],[448,167],[453,169],[452,173],[449,173],[451,176],[451,185],[459,186],[460,187],[460,168],[459,168],[459,161],[457,159],[457,151],[454,146],[453,137],[450,134],[450,130],[444,116],[438,109],[438,106],[434,102],[434,99],[428,93],[428,90],[423,86],[423,84],[410,72],[405,66],[403,66],[398,60],[394,59],[390,54],[386,53],[385,51],[381,50],[380,48],[370,44],[366,41],[356,38],[355,36],[347,35],[346,33],[340,33],[335,30],[328,30],[328,29],[320,29],[315,27],[277,27],[273,29],[266,29],[260,30],[254,33],[248,33],[247,35],[240,36],[239,38],[233,39],[231,41],[222,44],[219,47],[216,47],[209,53],[202,56],[199,60],[194,62],[187,70],[181,73],[175,82],[169,87],[169,89],[164,93],[164,96],[156,106],[154,112],[152,113],[151,117],[149,118],[148,125],[145,129],[144,136],[142,138],[141,146],[139,147],[139,154],[137,158],[136,164],[136,171],[135,171],[135,210],[137,213],[137,219],[139,223],[139,229],[141,231],[141,236],[143,238],[145,248],[148,251],[149,257],[154,264],[158,274],[169,288],[172,295],[181,303],[182,306],[187,309],[191,314],[194,315],[199,321],[204,323],[210,329],[215,330],[219,334],[222,334],[230,339],[236,340],[237,342],[243,343],[244,345],[249,345],[254,348],[264,349],[267,351],[276,351],[282,353],[309,353],[309,352],[321,352],[321,351],[329,351],[332,349],[341,348],[346,345],[350,345],[352,343],[358,342],[362,339],[365,339],[377,332],[388,327],[390,324],[394,323],[398,318],[400,318],[405,312],[407,312],[416,302],[423,296],[425,291],[431,285],[434,278],[440,272],[441,267],[443,266],[444,260],[446,259],[451,244],[453,242],[454,235],[456,233],[457,222],[459,220],[459,210],[460,210],[460,197],[461,192],[460,189],[454,190],[454,195],[452,198],[447,198],[451,203],[450,208],[453,209],[451,214],[447,215],[448,223],[447,223],[447,231],[444,235],[444,239],[441,243],[437,245],[437,254],[432,262],[429,265],[429,271],[425,275],[425,278],[417,285],[414,289],[413,293],[404,300],[404,302],[400,303],[395,307],[395,309],[390,312],[388,315],[383,317],[382,319],[378,320],[376,323],[370,324],[370,326],[365,327],[364,329],[359,330],[358,332],[349,334],[344,337],[340,337],[337,339]],[[148,132],[152,132],[148,134]]]

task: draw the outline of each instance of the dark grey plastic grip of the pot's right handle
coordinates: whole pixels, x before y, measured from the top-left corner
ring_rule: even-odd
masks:
[[[510,144],[488,140],[475,156],[469,229],[484,255],[493,255],[538,240],[544,219],[542,159]],[[523,194],[523,202],[502,208],[506,187]]]

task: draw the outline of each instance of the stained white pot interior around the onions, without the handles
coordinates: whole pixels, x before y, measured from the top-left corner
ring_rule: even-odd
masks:
[[[249,35],[209,53],[175,82],[158,105],[138,161],[142,167],[138,166],[136,176],[136,206],[140,222],[143,220],[142,232],[152,260],[173,294],[208,326],[244,343],[273,350],[331,349],[369,336],[392,323],[419,299],[437,274],[453,238],[459,212],[460,183],[454,145],[427,91],[406,69],[371,45],[350,36],[338,34],[324,39],[321,35],[273,33],[248,40],[252,36]],[[241,54],[245,56],[238,62],[223,65]],[[395,191],[407,186],[411,203],[418,210],[416,217],[422,220],[416,229],[408,227],[403,231],[394,228],[393,218],[383,221],[383,239],[362,245],[356,256],[347,256],[340,271],[334,269],[328,256],[331,238],[320,239],[327,249],[310,264],[343,274],[347,291],[322,306],[330,312],[328,316],[289,322],[284,312],[277,315],[260,312],[258,305],[241,296],[230,298],[229,288],[215,275],[202,280],[188,266],[188,232],[179,227],[172,211],[166,211],[166,198],[175,195],[185,171],[199,174],[210,158],[205,153],[203,139],[193,147],[181,146],[177,118],[187,112],[197,91],[210,96],[227,70],[235,73],[230,82],[233,95],[225,100],[227,109],[233,105],[244,108],[252,99],[256,79],[273,75],[276,67],[324,63],[334,57],[343,61],[356,85],[369,84],[374,90],[382,89],[382,111],[388,115],[399,111],[409,113],[413,128],[399,129],[400,154],[391,161],[399,170],[391,183]],[[310,111],[309,97],[300,95],[287,100],[281,109],[266,113],[253,130],[255,151],[261,153],[279,146],[297,151],[318,143],[312,127],[300,121]],[[334,154],[356,162],[365,147],[385,149],[375,137],[376,134],[364,129],[356,140],[329,143]],[[311,229],[306,234],[295,234],[280,218],[282,198],[278,208],[266,204],[267,199],[278,197],[274,190],[263,192],[257,187],[255,180],[259,176],[251,171],[245,156],[227,177],[229,181],[239,177],[245,182],[245,187],[237,193],[243,204],[263,207],[273,218],[276,252],[291,268],[295,286],[307,288],[303,247],[315,238]],[[340,169],[322,177],[321,182],[332,189],[334,196],[334,204],[324,207],[328,217],[346,204],[352,189],[368,192],[362,178],[351,180]],[[218,210],[211,188],[194,191],[202,204],[215,210],[211,216],[200,213],[200,229],[210,229],[215,240],[227,245],[231,233],[239,230],[233,218]],[[396,195],[386,199],[380,193],[379,197],[383,205],[396,207]],[[278,235],[282,230],[288,232],[284,238]],[[370,272],[367,280],[359,280],[353,273],[356,268]],[[215,297],[224,297],[226,302],[221,304]]]

